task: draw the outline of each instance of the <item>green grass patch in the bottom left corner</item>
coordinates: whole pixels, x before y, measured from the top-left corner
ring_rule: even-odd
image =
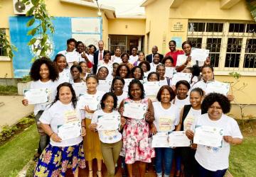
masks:
[[[0,176],[17,176],[38,147],[39,135],[36,124],[16,135],[0,147]]]

